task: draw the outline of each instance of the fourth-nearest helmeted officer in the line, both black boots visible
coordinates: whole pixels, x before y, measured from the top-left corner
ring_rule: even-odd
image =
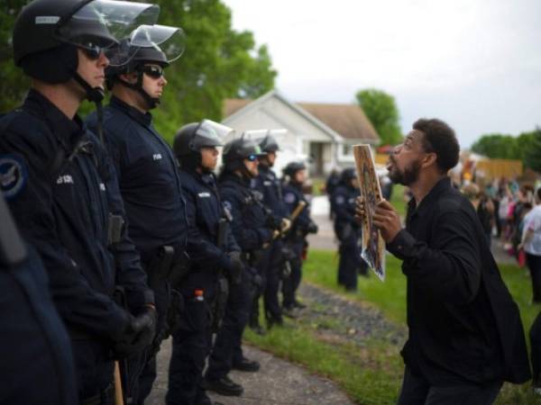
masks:
[[[231,211],[234,238],[243,250],[246,264],[240,283],[230,285],[224,323],[216,336],[206,370],[206,388],[222,395],[243,393],[243,387],[227,375],[232,368],[255,372],[260,367],[243,356],[241,343],[253,295],[261,288],[261,263],[268,257],[266,247],[272,240],[261,196],[251,188],[261,154],[261,148],[251,139],[230,141],[224,147],[224,167],[218,179],[220,196]]]

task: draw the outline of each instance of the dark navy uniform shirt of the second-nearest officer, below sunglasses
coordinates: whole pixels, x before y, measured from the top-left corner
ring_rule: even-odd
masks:
[[[96,114],[87,118],[96,128]],[[129,220],[130,237],[144,263],[158,247],[186,247],[188,220],[181,192],[177,160],[170,146],[143,114],[112,97],[104,109],[104,134],[115,164]]]

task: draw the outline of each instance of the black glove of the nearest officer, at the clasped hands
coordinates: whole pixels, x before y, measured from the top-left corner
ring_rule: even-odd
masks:
[[[156,310],[145,307],[136,317],[130,316],[124,336],[113,346],[115,358],[123,358],[142,351],[151,345],[155,333]]]

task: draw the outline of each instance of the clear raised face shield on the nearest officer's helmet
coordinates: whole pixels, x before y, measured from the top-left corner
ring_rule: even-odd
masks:
[[[87,49],[113,59],[112,66],[122,65],[137,49],[123,46],[121,40],[141,24],[158,20],[160,7],[156,4],[117,0],[93,0],[58,23],[55,36],[78,48]]]

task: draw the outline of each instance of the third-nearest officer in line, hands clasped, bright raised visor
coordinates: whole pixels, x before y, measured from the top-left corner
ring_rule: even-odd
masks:
[[[188,212],[190,270],[175,288],[185,311],[173,332],[168,405],[210,404],[201,386],[206,356],[212,345],[212,329],[225,311],[225,276],[235,281],[243,271],[228,215],[224,211],[212,172],[218,150],[231,128],[204,120],[182,127],[173,143],[179,159],[180,182]],[[213,325],[214,324],[214,325]]]

